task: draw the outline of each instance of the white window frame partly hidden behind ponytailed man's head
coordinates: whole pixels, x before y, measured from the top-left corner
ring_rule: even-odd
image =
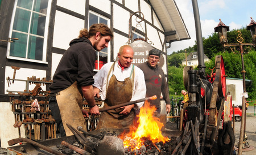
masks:
[[[107,20],[108,21],[108,27],[110,27],[110,19],[109,18],[106,18],[105,16],[102,16],[102,15],[100,15],[100,14],[97,14],[96,12],[93,12],[93,11],[90,11],[89,10],[89,15],[88,15],[88,31],[89,31],[89,27],[90,27],[90,25],[89,25],[89,19],[90,19],[90,14],[93,14],[93,15],[96,15],[96,16],[99,16],[100,18],[103,18],[103,19],[105,19],[105,20]],[[99,23],[100,21],[98,21],[98,23]],[[110,62],[110,47],[111,47],[111,44],[110,44],[110,42],[109,42],[109,46],[108,46],[108,48],[107,48],[107,52],[108,53],[106,53],[106,52],[104,52],[104,51],[97,51],[97,61],[98,61],[98,63],[97,63],[97,68],[100,68],[100,52],[101,53],[105,53],[105,54],[107,54],[108,55],[108,62]],[[108,63],[107,62],[107,63]],[[96,69],[94,69],[94,71],[99,71],[99,70],[96,70]]]

